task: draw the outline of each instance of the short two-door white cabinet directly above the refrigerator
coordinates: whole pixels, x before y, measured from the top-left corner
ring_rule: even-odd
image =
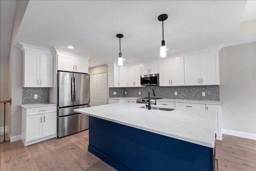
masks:
[[[58,70],[88,74],[88,59],[58,53]]]

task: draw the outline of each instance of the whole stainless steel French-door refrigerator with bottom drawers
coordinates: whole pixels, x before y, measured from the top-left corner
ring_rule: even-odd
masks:
[[[74,109],[90,107],[90,75],[58,72],[57,136],[63,137],[89,128],[89,117]]]

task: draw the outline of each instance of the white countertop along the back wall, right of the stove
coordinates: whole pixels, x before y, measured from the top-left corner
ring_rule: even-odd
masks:
[[[221,101],[210,101],[210,100],[187,100],[187,99],[158,99],[156,101],[168,101],[177,103],[199,103],[207,105],[222,105]]]

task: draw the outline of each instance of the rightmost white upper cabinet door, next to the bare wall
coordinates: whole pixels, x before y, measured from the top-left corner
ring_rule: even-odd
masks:
[[[218,85],[219,60],[216,52],[200,54],[201,85]]]

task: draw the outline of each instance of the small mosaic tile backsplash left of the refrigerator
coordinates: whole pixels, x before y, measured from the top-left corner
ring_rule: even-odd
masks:
[[[22,104],[49,103],[50,88],[47,87],[23,87],[22,88]],[[34,99],[37,94],[38,98]]]

